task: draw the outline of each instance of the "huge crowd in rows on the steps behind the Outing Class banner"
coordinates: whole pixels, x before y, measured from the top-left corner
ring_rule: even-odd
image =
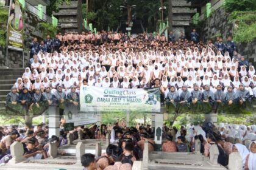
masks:
[[[17,103],[37,109],[41,102],[79,104],[81,86],[113,88],[159,87],[161,103],[245,104],[256,97],[254,66],[227,43],[199,41],[170,32],[154,36],[127,33],[77,32],[47,36],[30,44],[30,66],[7,95],[10,108]]]

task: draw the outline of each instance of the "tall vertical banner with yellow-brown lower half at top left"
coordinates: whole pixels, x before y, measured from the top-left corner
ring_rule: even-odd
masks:
[[[23,51],[23,9],[18,0],[10,0],[10,12],[7,25],[8,49]]]

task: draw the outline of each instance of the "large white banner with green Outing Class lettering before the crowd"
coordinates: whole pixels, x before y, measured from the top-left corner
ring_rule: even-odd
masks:
[[[84,86],[80,112],[160,112],[160,89],[114,89]]]

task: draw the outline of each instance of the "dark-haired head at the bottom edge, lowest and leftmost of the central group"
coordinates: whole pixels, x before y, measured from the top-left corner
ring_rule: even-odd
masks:
[[[82,166],[84,166],[84,170],[96,170],[96,160],[95,155],[93,154],[84,154],[81,157]]]

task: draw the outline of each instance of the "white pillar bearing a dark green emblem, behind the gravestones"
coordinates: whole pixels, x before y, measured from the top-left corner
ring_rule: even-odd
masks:
[[[163,114],[155,114],[155,151],[162,151]]]

